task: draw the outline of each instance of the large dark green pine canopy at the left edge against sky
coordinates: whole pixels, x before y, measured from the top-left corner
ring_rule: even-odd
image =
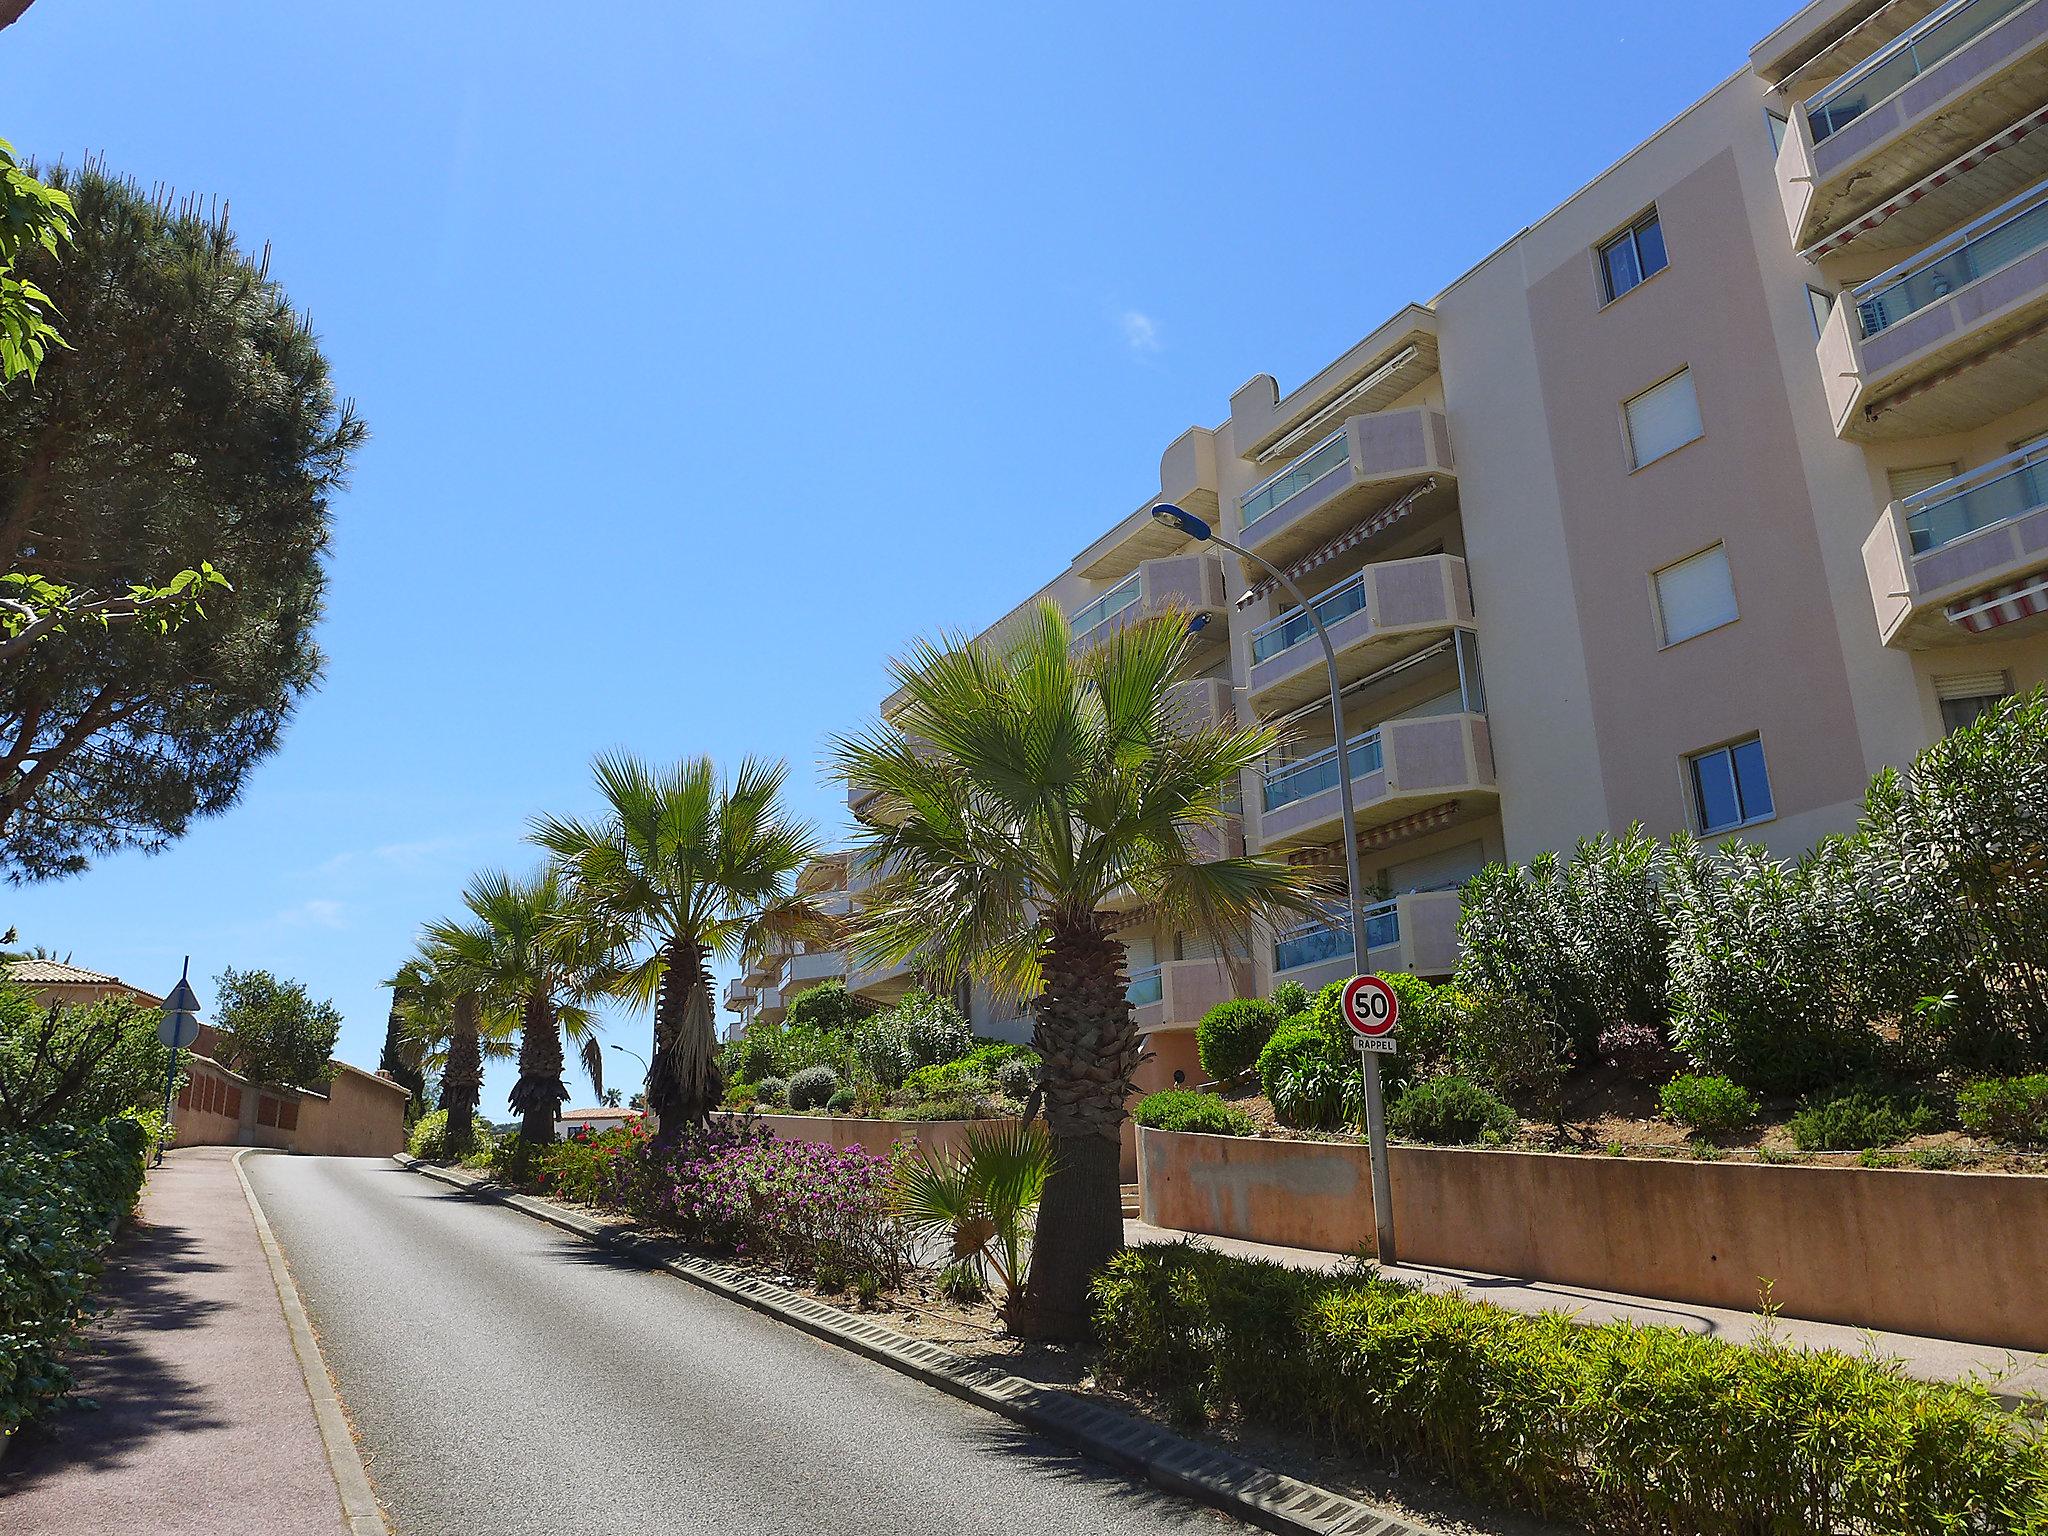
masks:
[[[53,168],[59,262],[20,274],[63,315],[0,416],[0,569],[117,598],[180,571],[197,623],[74,623],[0,657],[0,866],[70,874],[223,811],[322,670],[328,500],[362,424],[305,315],[225,215]]]

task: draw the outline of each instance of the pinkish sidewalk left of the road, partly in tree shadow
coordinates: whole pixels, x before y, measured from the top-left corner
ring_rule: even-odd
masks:
[[[72,1405],[0,1462],[0,1528],[346,1530],[233,1153],[186,1147],[150,1174],[72,1352]]]

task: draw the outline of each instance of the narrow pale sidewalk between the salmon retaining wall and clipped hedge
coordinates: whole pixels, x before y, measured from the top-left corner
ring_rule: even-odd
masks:
[[[1350,1264],[1350,1257],[1343,1253],[1247,1243],[1239,1237],[1206,1237],[1169,1227],[1147,1227],[1143,1221],[1124,1223],[1124,1241],[1133,1245],[1178,1243],[1182,1239],[1194,1239],[1202,1247],[1237,1253],[1247,1260],[1272,1260],[1290,1270],[1337,1270]],[[1409,1280],[1425,1290],[1462,1292],[1470,1300],[1487,1300],[1518,1313],[1567,1311],[1583,1323],[1663,1323],[1665,1327],[1681,1327],[1688,1333],[1708,1333],[1729,1343],[1749,1343],[1763,1331],[1763,1319],[1757,1313],[1737,1313],[1724,1307],[1696,1307],[1692,1303],[1655,1300],[1651,1296],[1624,1296],[1614,1290],[1589,1290],[1585,1286],[1516,1280],[1513,1276],[1419,1264],[1393,1266],[1382,1270],[1382,1274],[1393,1280]],[[1772,1333],[1780,1341],[1802,1343],[1815,1350],[1896,1356],[1905,1364],[1907,1374],[1921,1380],[1978,1376],[2009,1403],[2036,1393],[2048,1397],[2048,1356],[1995,1350],[1989,1343],[1923,1339],[1913,1333],[1878,1333],[1874,1329],[1843,1327],[1841,1323],[1806,1323],[1792,1317],[1778,1317],[1772,1323]]]

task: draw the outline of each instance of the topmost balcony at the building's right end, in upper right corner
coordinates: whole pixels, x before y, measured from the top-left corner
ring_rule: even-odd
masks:
[[[1802,250],[2048,104],[2048,0],[1954,0],[1794,113],[1778,152]],[[1931,188],[1968,197],[1950,182]],[[1960,203],[1958,203],[1960,209]]]

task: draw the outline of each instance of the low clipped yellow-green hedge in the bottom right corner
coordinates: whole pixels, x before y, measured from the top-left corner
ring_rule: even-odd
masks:
[[[2048,1532],[2048,1444],[1978,1384],[1673,1327],[1528,1317],[1192,1243],[1096,1278],[1102,1368],[1604,1536]]]

